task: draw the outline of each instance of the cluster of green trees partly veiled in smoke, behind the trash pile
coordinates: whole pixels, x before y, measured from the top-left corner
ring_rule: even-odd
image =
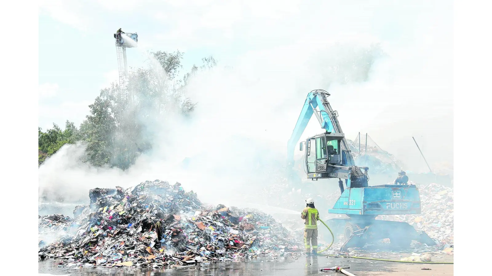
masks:
[[[57,125],[45,133],[39,129],[39,164],[63,144],[81,141],[86,145],[85,162],[127,169],[153,148],[155,133],[149,126],[156,119],[170,111],[192,112],[195,104],[184,96],[184,87],[199,70],[214,67],[215,59],[203,58],[200,68],[193,65],[179,79],[183,53],[158,51],[150,55],[154,58],[150,58],[149,67],[130,72],[124,89],[113,83],[100,91],[80,129],[68,121],[63,131]]]

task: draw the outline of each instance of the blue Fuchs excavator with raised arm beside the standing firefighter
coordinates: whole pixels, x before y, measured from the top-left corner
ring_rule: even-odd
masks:
[[[436,245],[424,231],[399,221],[376,220],[378,215],[420,214],[420,195],[408,178],[400,176],[395,185],[369,186],[368,167],[355,165],[349,145],[338,123],[338,112],[330,106],[330,94],[321,89],[307,94],[287,147],[288,173],[292,176],[294,150],[312,114],[316,116],[324,133],[307,138],[299,149],[305,151],[304,168],[311,180],[338,178],[340,197],[328,210],[330,214],[343,214],[346,219],[326,221],[336,236],[342,235],[345,243],[341,250],[363,248],[389,239],[391,250],[409,248],[412,241],[428,246]],[[405,178],[406,177],[406,178]],[[344,181],[343,181],[343,180]]]

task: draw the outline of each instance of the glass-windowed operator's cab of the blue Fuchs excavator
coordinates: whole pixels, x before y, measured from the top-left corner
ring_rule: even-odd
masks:
[[[334,166],[342,166],[340,142],[344,137],[342,133],[327,132],[301,142],[300,150],[306,149],[304,159],[307,173],[317,173],[322,177],[322,174],[337,169]]]

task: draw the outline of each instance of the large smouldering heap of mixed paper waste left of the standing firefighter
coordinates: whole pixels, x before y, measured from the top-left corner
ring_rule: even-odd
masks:
[[[73,220],[57,224],[73,234],[41,247],[41,259],[59,258],[60,265],[158,268],[302,251],[300,241],[271,216],[206,206],[179,183],[155,180],[127,190],[93,189],[90,199],[89,206],[74,210]]]

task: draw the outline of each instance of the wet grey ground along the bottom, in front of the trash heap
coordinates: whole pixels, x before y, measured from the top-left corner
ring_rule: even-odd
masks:
[[[453,256],[436,261],[452,262]],[[453,265],[404,264],[351,258],[327,258],[324,256],[299,256],[297,259],[257,258],[250,261],[229,261],[215,264],[200,263],[184,269],[137,269],[137,268],[75,268],[58,267],[53,259],[39,262],[39,273],[70,276],[302,276],[302,275],[342,275],[336,272],[320,272],[326,267],[350,267],[347,271],[354,275],[370,276],[450,276]],[[431,268],[431,270],[422,270]]]

